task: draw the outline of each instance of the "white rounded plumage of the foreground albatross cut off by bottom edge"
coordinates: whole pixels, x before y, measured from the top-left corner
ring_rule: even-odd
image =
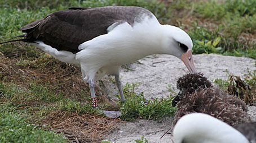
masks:
[[[173,130],[174,143],[249,143],[227,123],[203,113],[187,114]]]

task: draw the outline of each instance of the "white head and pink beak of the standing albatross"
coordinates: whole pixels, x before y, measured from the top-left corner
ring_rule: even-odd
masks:
[[[191,52],[193,43],[189,35],[179,27],[171,25],[162,25],[162,27],[164,33],[163,48],[165,53],[182,59],[189,72],[197,72]]]

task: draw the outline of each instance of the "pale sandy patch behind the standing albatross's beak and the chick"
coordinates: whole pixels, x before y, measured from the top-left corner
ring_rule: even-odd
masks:
[[[154,58],[155,57],[155,58]],[[188,70],[182,61],[169,55],[157,55],[141,59],[142,64],[131,64],[134,71],[121,71],[123,84],[139,83],[135,91],[144,91],[145,98],[165,98],[170,95],[167,86],[176,91],[176,81]],[[217,54],[200,54],[193,56],[198,72],[202,72],[209,80],[227,79],[227,71],[244,77],[247,71],[255,70],[255,60],[244,57],[220,56]]]

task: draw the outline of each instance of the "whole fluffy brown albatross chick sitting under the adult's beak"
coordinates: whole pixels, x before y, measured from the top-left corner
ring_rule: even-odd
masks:
[[[200,82],[197,82],[198,78],[201,79]],[[213,87],[202,73],[185,75],[179,79],[177,85],[182,89],[182,94],[179,95],[174,124],[182,116],[195,112],[209,114],[231,126],[250,121],[245,103]]]

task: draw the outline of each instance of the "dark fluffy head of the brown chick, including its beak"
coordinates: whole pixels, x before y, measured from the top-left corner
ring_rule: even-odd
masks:
[[[205,89],[208,87],[212,87],[211,82],[204,77],[203,73],[188,73],[187,75],[180,77],[177,81],[177,89],[180,91],[171,103],[173,107],[175,107],[180,99],[191,95],[197,89]]]

